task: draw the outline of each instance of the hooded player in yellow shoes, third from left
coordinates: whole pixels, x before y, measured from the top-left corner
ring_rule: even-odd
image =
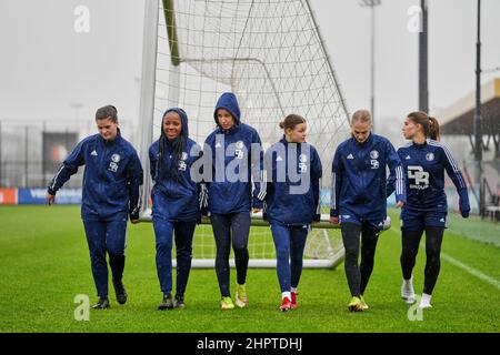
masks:
[[[233,93],[223,93],[213,113],[217,129],[207,138],[204,158],[211,159],[211,181],[207,181],[208,212],[217,245],[216,273],[222,310],[234,304],[244,307],[249,262],[248,235],[251,211],[262,209],[266,196],[263,153],[257,131],[242,123],[240,108]],[[252,193],[252,180],[254,191]],[[234,303],[229,291],[229,253],[234,251],[237,290]]]

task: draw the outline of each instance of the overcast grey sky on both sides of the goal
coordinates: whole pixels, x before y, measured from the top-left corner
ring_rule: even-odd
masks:
[[[139,111],[144,0],[0,0],[0,120],[92,119],[113,103]],[[474,90],[477,0],[428,0],[431,111]],[[73,29],[78,6],[90,31]],[[370,10],[358,0],[311,0],[351,111],[370,106]],[[407,29],[419,0],[376,9],[376,113],[418,105],[418,34]],[[500,67],[500,1],[482,0],[482,65]],[[496,73],[500,77],[500,72]],[[494,73],[483,74],[482,82]],[[81,105],[81,108],[78,108]],[[78,109],[77,109],[78,108]],[[386,122],[386,121],[383,121]]]

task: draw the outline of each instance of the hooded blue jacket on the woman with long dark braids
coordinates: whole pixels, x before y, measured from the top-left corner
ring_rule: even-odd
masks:
[[[186,146],[179,161],[176,158],[179,139],[170,142],[164,138],[163,166],[159,170],[160,140],[149,149],[149,160],[153,187],[151,192],[152,215],[170,222],[197,221],[200,216],[200,186],[191,179],[191,166],[200,158],[201,148],[189,139],[188,116],[183,110],[171,109],[179,114],[182,122],[181,134],[186,138]],[[168,112],[168,111],[167,111]],[[163,129],[163,128],[161,128]],[[173,168],[172,164],[177,166]]]

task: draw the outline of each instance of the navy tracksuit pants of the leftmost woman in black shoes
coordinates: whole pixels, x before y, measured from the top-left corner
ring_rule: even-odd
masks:
[[[83,220],[83,226],[89,244],[90,262],[98,296],[108,296],[108,264],[113,280],[121,281],[124,268],[124,250],[127,243],[127,220],[122,221],[90,221]]]

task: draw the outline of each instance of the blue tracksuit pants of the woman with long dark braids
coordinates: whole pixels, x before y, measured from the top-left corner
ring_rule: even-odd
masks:
[[[192,258],[192,236],[197,226],[192,222],[171,222],[153,216],[157,248],[157,272],[161,292],[172,292],[172,240],[176,240],[177,278],[176,294],[183,297],[188,285]]]

